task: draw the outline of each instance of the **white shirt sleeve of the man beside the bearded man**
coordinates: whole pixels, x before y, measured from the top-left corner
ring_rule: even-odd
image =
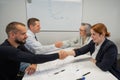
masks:
[[[34,36],[28,35],[26,40],[25,47],[35,54],[43,54],[50,51],[57,50],[54,44],[52,45],[42,45],[39,41],[37,41]]]

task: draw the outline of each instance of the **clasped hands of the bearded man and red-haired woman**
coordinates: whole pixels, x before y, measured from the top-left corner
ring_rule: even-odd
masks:
[[[69,51],[60,50],[58,54],[59,54],[59,59],[65,59],[67,56],[75,56],[74,50],[69,50]]]

